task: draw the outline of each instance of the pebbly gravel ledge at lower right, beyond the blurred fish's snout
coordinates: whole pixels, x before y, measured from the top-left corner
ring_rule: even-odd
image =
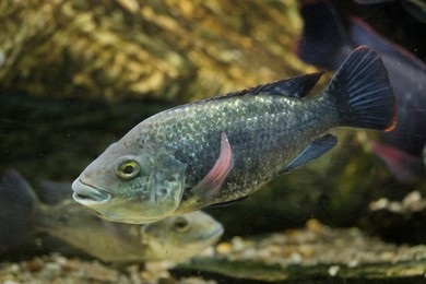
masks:
[[[227,283],[422,283],[426,263],[425,246],[386,244],[357,228],[331,228],[316,220],[303,229],[234,237],[217,245],[216,252],[173,274],[214,273],[228,277]]]

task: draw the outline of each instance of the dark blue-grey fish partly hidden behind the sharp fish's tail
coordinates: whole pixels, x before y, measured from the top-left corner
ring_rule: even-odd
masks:
[[[405,162],[413,162],[412,165],[405,164],[406,167],[403,164],[390,166],[397,178],[403,182],[423,176],[424,174],[418,176],[418,173],[422,173],[418,165],[422,165],[422,150],[426,143],[426,66],[404,48],[379,36],[359,19],[351,19],[348,31],[345,31],[341,19],[328,1],[305,2],[300,14],[305,27],[297,54],[304,61],[320,68],[336,69],[344,60],[345,54],[359,45],[369,46],[380,55],[397,97],[398,123],[393,131],[380,133],[386,146],[394,147],[394,151],[381,151],[377,154],[386,159],[389,166],[389,163],[401,161],[391,156],[384,157],[395,152],[406,155]],[[320,24],[321,22],[323,24]],[[372,147],[372,151],[379,149]],[[410,156],[414,156],[416,161]],[[395,173],[394,169],[413,171]]]

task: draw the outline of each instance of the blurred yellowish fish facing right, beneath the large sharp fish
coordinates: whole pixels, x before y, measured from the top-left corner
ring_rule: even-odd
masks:
[[[0,252],[47,233],[106,262],[182,261],[214,245],[223,230],[201,211],[145,225],[111,223],[70,197],[56,205],[40,203],[15,170],[8,170],[0,181]]]

